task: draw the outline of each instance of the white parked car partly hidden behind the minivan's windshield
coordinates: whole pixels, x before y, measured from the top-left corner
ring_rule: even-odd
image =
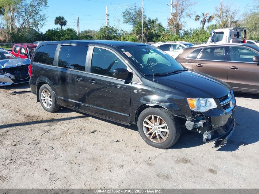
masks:
[[[182,51],[183,48],[192,47],[194,44],[189,42],[158,42],[154,44],[155,47],[160,48],[162,51],[165,51],[167,54],[171,55],[173,58],[176,58]]]

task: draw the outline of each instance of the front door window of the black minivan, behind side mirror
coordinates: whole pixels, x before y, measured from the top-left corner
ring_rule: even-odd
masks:
[[[103,48],[94,48],[91,64],[91,73],[112,77],[114,69],[127,66],[111,51]]]

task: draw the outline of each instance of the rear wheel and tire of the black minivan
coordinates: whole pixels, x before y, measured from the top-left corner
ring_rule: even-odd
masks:
[[[55,93],[48,84],[40,86],[38,95],[40,104],[45,111],[56,112],[60,109],[61,106],[57,103]]]

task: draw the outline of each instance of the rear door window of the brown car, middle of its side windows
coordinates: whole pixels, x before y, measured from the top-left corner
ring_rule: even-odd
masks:
[[[224,61],[225,47],[204,48],[198,59]]]

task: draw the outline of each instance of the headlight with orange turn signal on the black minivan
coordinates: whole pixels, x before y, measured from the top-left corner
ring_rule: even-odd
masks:
[[[210,109],[217,108],[213,98],[187,98],[191,110],[197,112],[206,112]]]

